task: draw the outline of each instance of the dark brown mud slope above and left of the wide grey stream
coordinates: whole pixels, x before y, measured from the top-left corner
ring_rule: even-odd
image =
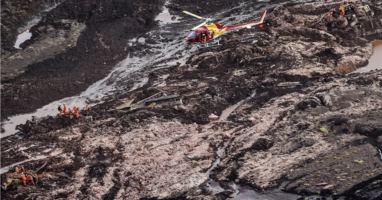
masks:
[[[163,3],[67,0],[31,28],[31,40],[21,45],[24,50],[13,47],[15,31],[2,35],[10,40],[5,42],[13,43],[2,46],[8,49],[0,59],[0,120],[78,94],[104,78],[134,51],[134,47],[125,49],[128,40],[154,25]],[[0,18],[0,23],[21,24],[6,24],[7,19]]]

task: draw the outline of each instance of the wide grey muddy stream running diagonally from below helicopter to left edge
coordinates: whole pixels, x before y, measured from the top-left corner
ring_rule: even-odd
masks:
[[[178,23],[177,20],[168,21],[168,19],[178,18],[169,14],[168,9],[165,9],[163,13],[159,14],[156,20],[161,20],[162,25],[158,30],[151,31],[144,35],[144,37],[151,37],[158,40],[158,37],[164,37],[167,35],[168,29],[175,29],[173,24]],[[165,22],[165,23],[164,23]],[[183,40],[184,34],[188,31],[177,32],[174,34],[172,42],[159,44],[146,44],[151,46],[151,50],[155,50],[155,55],[147,54],[146,49],[142,49],[142,56],[128,56],[125,60],[117,64],[116,68],[110,72],[104,79],[97,81],[93,85],[89,86],[86,91],[77,96],[72,96],[58,101],[51,102],[37,109],[35,112],[23,115],[16,115],[3,122],[4,132],[0,133],[0,138],[13,135],[18,132],[15,130],[16,125],[24,124],[26,120],[31,120],[33,116],[45,117],[47,115],[55,116],[58,114],[58,104],[65,103],[68,107],[74,105],[83,108],[90,100],[92,102],[102,102],[102,99],[110,94],[117,93],[118,91],[129,92],[134,89],[140,88],[147,83],[147,74],[158,70],[160,68],[167,68],[180,63],[185,64],[186,60],[191,56],[189,52],[196,50],[196,47],[186,49],[186,42]],[[142,42],[144,40],[135,39],[134,42]],[[128,44],[126,44],[128,46]],[[128,47],[126,47],[128,48]],[[139,52],[138,52],[139,53]],[[134,81],[131,84],[131,81]]]

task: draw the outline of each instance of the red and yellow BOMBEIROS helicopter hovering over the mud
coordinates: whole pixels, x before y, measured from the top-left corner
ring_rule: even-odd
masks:
[[[197,47],[206,48],[206,47],[213,47],[213,46],[219,46],[221,45],[219,43],[219,40],[217,37],[221,36],[224,33],[228,33],[231,31],[238,31],[243,28],[252,28],[252,26],[259,25],[261,29],[264,29],[264,25],[262,24],[265,18],[265,13],[267,13],[267,10],[264,10],[260,16],[260,19],[258,21],[248,22],[244,24],[235,24],[230,26],[222,26],[222,24],[218,23],[212,23],[212,21],[215,20],[222,20],[222,19],[228,19],[228,18],[236,18],[236,17],[244,17],[244,16],[250,16],[250,15],[239,15],[239,16],[231,16],[231,17],[224,17],[224,18],[204,18],[198,15],[195,15],[193,13],[190,13],[188,11],[183,11],[183,13],[186,13],[187,15],[194,16],[198,19],[204,19],[203,23],[195,26],[191,30],[193,30],[187,37],[187,42],[199,42],[201,44],[197,45]],[[202,34],[206,36],[205,41],[202,41]]]

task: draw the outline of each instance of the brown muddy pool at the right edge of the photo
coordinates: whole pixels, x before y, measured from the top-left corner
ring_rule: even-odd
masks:
[[[348,74],[352,73],[364,73],[364,72],[370,72],[371,70],[380,70],[382,69],[382,41],[377,40],[374,42],[371,42],[371,44],[374,45],[373,47],[373,55],[369,59],[369,64],[367,64],[366,67],[358,68],[354,72],[350,72]]]

